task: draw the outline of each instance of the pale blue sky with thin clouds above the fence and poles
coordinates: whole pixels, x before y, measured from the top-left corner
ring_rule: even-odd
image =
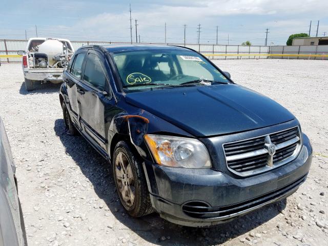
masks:
[[[163,43],[167,23],[167,43],[183,43],[183,25],[187,25],[186,43],[238,45],[250,40],[264,45],[284,45],[293,33],[319,32],[328,35],[326,0],[141,0],[141,1],[63,1],[0,0],[0,39],[25,39],[35,36],[63,37],[71,40],[130,41],[129,4],[132,8],[132,34],[135,42],[135,19],[141,42]]]

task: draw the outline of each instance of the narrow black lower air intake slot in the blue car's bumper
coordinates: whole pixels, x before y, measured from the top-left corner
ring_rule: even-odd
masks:
[[[230,217],[238,216],[239,214],[252,211],[253,209],[260,208],[266,204],[281,199],[286,194],[295,191],[301,183],[305,181],[306,175],[298,178],[289,185],[283,186],[279,189],[255,197],[253,199],[238,202],[229,206],[211,207],[202,201],[190,201],[182,206],[182,211],[193,218],[222,218],[228,219]]]

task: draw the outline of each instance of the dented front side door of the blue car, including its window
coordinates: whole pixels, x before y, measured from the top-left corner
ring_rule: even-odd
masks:
[[[114,100],[109,90],[105,63],[102,53],[96,50],[88,51],[83,80],[77,85],[77,93],[82,130],[106,152],[105,108],[114,105]]]

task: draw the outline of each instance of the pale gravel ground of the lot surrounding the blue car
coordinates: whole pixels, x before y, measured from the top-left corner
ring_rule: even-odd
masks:
[[[120,206],[106,161],[66,134],[59,85],[24,88],[20,64],[0,67],[0,115],[17,166],[29,245],[324,245],[328,241],[328,61],[216,60],[233,80],[300,120],[315,151],[291,197],[210,229],[180,227]],[[326,245],[326,244],[325,244]]]

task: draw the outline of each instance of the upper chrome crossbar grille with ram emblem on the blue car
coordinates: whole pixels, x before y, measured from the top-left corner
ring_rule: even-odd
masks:
[[[301,144],[298,127],[223,144],[228,168],[242,176],[267,171],[291,161]],[[269,154],[269,146],[275,149]]]

